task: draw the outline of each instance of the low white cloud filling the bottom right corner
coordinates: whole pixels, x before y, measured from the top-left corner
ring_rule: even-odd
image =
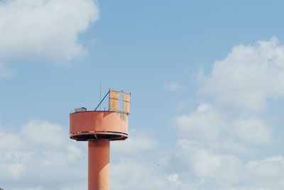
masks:
[[[178,180],[180,186],[176,189],[284,188],[282,156],[245,162],[234,154],[217,153],[188,139],[179,139],[167,157],[163,172],[169,174],[171,181]]]

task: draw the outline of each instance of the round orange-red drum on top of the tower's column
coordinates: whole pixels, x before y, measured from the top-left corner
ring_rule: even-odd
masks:
[[[114,111],[86,111],[70,114],[70,138],[124,140],[128,137],[128,115]]]

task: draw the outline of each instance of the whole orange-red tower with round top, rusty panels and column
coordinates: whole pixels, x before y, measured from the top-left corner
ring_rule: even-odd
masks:
[[[108,95],[109,109],[97,110]],[[130,93],[109,90],[95,110],[70,113],[70,138],[88,142],[89,190],[109,190],[109,142],[127,139],[130,100]]]

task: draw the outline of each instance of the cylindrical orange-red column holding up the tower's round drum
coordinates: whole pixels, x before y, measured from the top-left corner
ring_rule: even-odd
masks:
[[[109,139],[89,139],[88,189],[109,190]]]

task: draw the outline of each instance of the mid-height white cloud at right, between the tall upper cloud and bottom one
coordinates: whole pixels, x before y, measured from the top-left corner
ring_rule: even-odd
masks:
[[[207,144],[213,149],[246,152],[246,144],[271,142],[272,132],[261,118],[229,117],[226,112],[202,103],[194,112],[176,117],[180,137]]]

